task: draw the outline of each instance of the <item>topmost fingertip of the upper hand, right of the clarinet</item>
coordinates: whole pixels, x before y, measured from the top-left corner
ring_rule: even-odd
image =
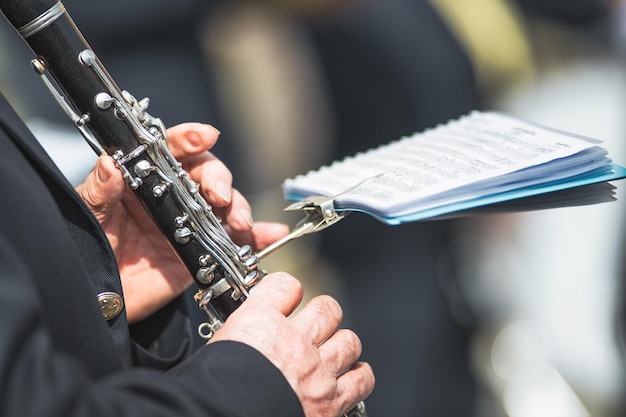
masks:
[[[211,149],[219,130],[203,123],[181,123],[167,129],[168,147],[176,159],[199,155]]]

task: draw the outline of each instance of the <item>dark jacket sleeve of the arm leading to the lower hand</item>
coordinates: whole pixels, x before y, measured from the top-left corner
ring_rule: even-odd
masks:
[[[205,346],[169,372],[90,374],[83,360],[54,348],[24,262],[0,235],[0,415],[303,416],[278,369],[234,342]]]

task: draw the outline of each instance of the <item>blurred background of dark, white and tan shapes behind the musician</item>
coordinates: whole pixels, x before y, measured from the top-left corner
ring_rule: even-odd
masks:
[[[299,220],[285,178],[472,109],[603,140],[626,164],[620,0],[64,4],[152,115],[219,128],[214,151],[257,220]],[[0,24],[0,88],[78,183],[94,156],[31,58]],[[264,268],[342,302],[377,375],[372,417],[623,416],[616,185],[589,207],[397,227],[354,214]]]

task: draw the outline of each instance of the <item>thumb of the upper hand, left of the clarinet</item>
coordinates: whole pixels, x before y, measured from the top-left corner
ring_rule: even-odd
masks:
[[[122,173],[108,155],[98,157],[96,166],[76,191],[102,223],[120,202],[126,190]]]

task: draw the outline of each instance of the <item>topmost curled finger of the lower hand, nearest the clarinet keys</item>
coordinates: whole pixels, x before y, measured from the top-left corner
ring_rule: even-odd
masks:
[[[302,301],[302,284],[285,272],[266,275],[254,288],[248,300],[243,304],[264,304],[280,311],[284,316],[291,314]]]

